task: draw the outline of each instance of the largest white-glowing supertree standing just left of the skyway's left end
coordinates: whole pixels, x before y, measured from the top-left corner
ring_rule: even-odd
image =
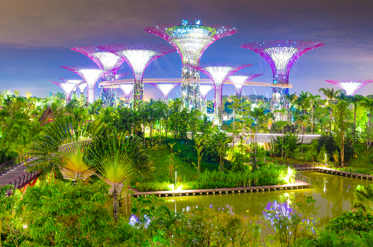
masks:
[[[62,68],[68,69],[74,73],[80,75],[88,86],[88,103],[92,104],[95,101],[95,85],[96,82],[105,74],[107,71],[84,66],[61,66]]]

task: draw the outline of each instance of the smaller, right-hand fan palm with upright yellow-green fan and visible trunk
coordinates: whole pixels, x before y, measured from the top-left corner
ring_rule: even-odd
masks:
[[[113,216],[114,221],[117,222],[119,212],[119,199],[123,187],[128,186],[135,178],[135,171],[130,160],[124,151],[120,150],[120,145],[116,150],[111,151],[96,166],[102,174],[105,182],[110,186],[109,193],[113,196]],[[124,195],[125,197],[127,195]]]

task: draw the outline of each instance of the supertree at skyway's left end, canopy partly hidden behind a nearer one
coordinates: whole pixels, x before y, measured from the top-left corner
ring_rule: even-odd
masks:
[[[101,50],[98,46],[81,46],[71,48],[73,51],[80,52],[93,60],[100,69],[108,71],[103,75],[102,81],[117,80],[116,74],[119,66],[124,62],[121,56],[112,52]],[[116,88],[102,88],[101,100],[104,105],[113,106],[117,99]]]

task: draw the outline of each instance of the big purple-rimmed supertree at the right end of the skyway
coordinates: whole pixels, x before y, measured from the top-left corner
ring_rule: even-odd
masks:
[[[240,47],[255,51],[270,64],[273,72],[273,84],[289,84],[289,72],[293,63],[307,51],[324,46],[314,41],[286,40],[260,41],[240,45]],[[288,88],[272,88],[271,111],[288,108],[285,95]]]

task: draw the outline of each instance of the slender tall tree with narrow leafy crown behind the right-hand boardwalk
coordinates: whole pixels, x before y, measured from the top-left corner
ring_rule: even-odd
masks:
[[[341,100],[334,112],[334,121],[335,121],[335,137],[334,142],[341,149],[341,166],[344,164],[344,142],[346,130],[349,126],[348,115],[349,110],[347,108],[348,103]]]

